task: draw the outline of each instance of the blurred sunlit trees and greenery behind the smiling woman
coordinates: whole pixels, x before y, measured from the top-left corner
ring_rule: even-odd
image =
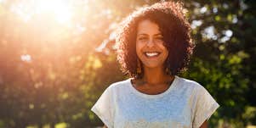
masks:
[[[126,79],[115,29],[156,0],[0,0],[0,128],[103,125],[90,111]],[[220,104],[210,127],[256,125],[254,0],[185,0],[196,43],[189,70]]]

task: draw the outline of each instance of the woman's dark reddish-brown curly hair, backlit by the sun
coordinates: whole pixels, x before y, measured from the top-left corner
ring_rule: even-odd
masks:
[[[162,33],[163,45],[168,49],[164,63],[170,70],[168,74],[177,75],[185,70],[194,48],[191,25],[185,19],[183,3],[163,2],[139,8],[122,21],[116,38],[117,60],[122,72],[131,77],[142,77],[137,73],[136,36],[139,22],[145,19],[156,23]]]

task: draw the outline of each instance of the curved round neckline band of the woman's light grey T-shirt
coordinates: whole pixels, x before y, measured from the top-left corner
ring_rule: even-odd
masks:
[[[146,97],[146,98],[157,98],[157,97],[162,97],[166,94],[168,94],[168,92],[170,92],[171,90],[174,89],[174,86],[177,84],[179,76],[174,75],[174,81],[172,82],[172,84],[168,87],[168,89],[160,94],[155,94],[155,95],[151,95],[151,94],[146,94],[143,92],[139,92],[137,89],[134,88],[133,84],[132,84],[132,78],[128,79],[128,86],[131,89],[132,92],[134,92],[135,94],[139,95],[140,97]]]

